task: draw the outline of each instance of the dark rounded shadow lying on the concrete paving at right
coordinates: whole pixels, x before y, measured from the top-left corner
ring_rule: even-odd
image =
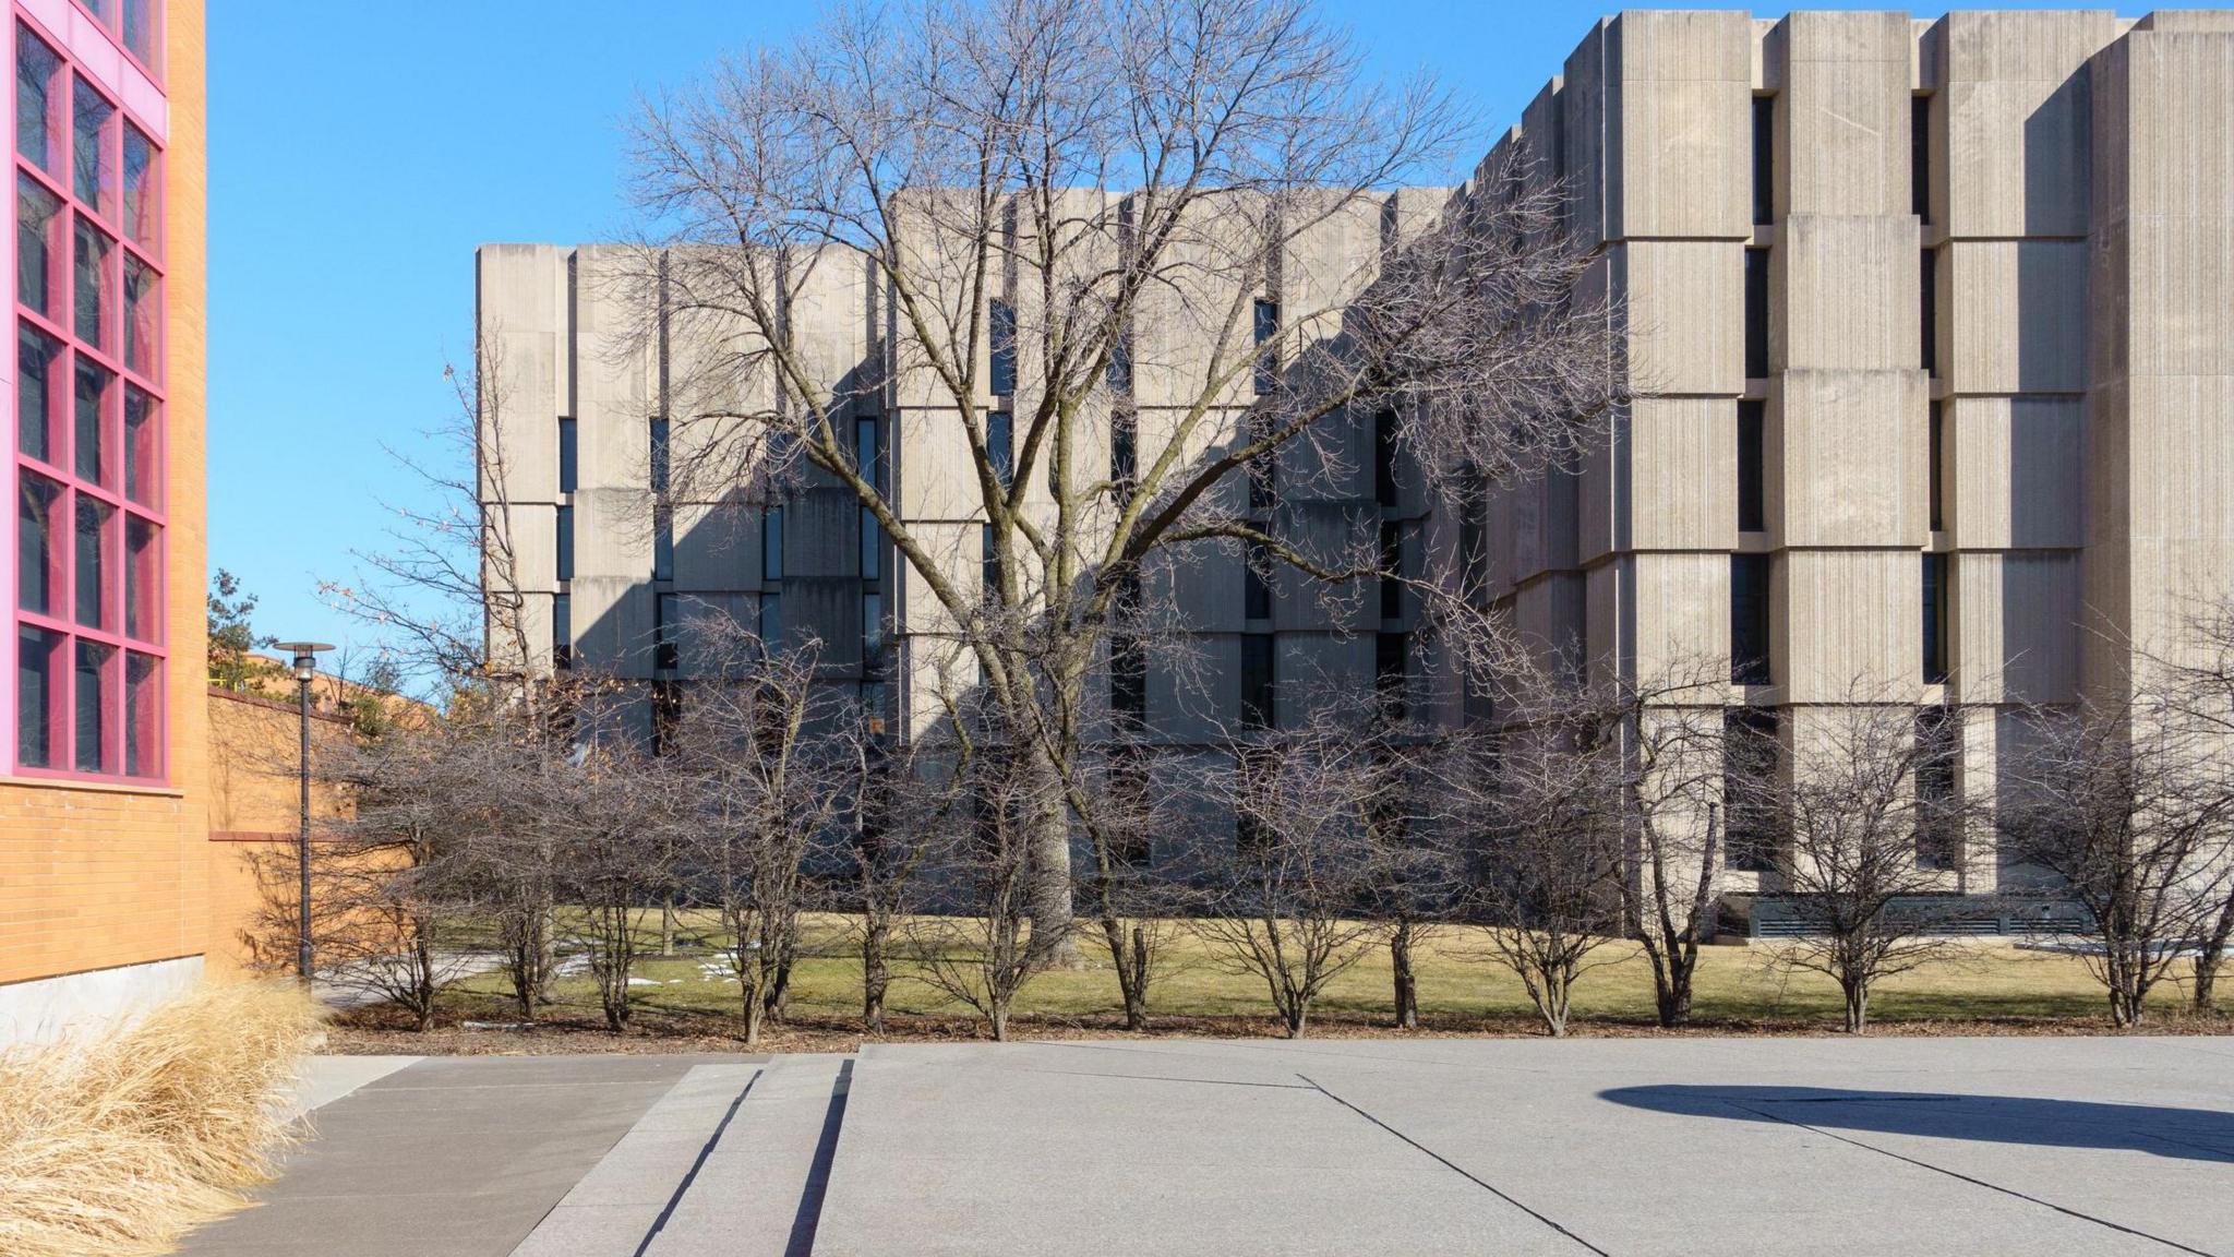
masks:
[[[1696,1118],[1919,1134],[1977,1143],[2104,1147],[2234,1163],[2234,1114],[2035,1096],[1845,1091],[1836,1087],[1615,1087],[1597,1098]]]

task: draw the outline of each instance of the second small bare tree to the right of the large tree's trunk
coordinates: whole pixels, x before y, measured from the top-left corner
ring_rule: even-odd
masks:
[[[1233,845],[1206,857],[1209,897],[1191,924],[1211,964],[1262,982],[1287,1038],[1302,1038],[1327,984],[1381,937],[1367,915],[1378,747],[1323,711],[1293,729],[1240,734],[1229,756],[1231,769],[1213,769],[1204,792],[1211,812],[1233,816]]]

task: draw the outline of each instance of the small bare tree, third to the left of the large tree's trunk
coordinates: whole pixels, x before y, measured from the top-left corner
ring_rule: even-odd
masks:
[[[695,637],[708,667],[677,729],[688,794],[677,850],[719,910],[744,1042],[757,1045],[798,962],[811,857],[833,841],[860,790],[862,729],[836,689],[815,684],[818,642],[768,651],[717,617],[701,620]]]

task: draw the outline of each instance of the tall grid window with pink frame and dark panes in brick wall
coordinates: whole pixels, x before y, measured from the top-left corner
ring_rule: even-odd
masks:
[[[80,0],[143,65],[152,0]],[[18,769],[165,772],[163,157],[18,27]],[[103,72],[107,74],[107,72]]]

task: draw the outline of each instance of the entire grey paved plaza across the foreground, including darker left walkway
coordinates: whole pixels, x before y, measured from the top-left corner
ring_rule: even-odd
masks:
[[[400,1067],[395,1067],[400,1065]],[[871,1045],[355,1069],[188,1253],[2234,1257],[2234,1038]],[[378,1076],[371,1076],[378,1074]]]

